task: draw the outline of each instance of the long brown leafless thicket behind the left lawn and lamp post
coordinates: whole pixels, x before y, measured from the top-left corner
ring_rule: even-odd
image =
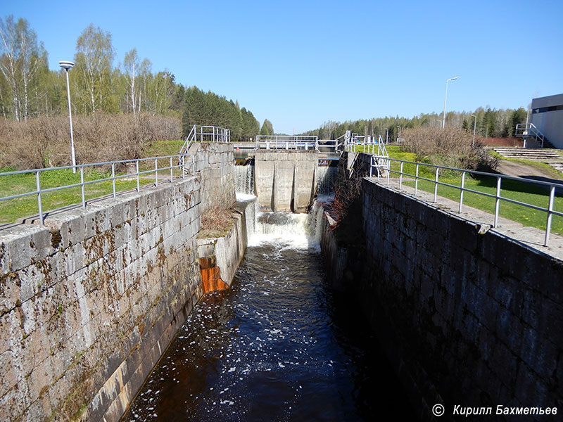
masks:
[[[180,136],[178,118],[146,113],[77,116],[72,127],[79,163],[141,158],[151,143]],[[67,116],[0,120],[0,167],[25,170],[71,164]]]

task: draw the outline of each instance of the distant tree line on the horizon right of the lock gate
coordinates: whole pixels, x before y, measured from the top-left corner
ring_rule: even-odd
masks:
[[[475,115],[476,117],[473,117]],[[336,139],[347,130],[361,136],[379,136],[389,142],[400,138],[403,129],[415,127],[441,127],[441,113],[421,113],[415,117],[378,117],[369,120],[346,122],[324,122],[318,129],[305,132],[305,135],[319,136],[320,139]],[[514,136],[514,128],[526,122],[526,110],[477,108],[474,112],[450,111],[446,113],[445,125],[467,130],[482,138],[503,138]]]

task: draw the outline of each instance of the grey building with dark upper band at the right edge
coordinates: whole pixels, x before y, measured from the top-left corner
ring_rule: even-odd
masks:
[[[563,94],[533,98],[531,122],[555,148],[563,148]]]

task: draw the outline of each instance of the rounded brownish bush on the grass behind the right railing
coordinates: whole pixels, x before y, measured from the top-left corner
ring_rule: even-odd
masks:
[[[496,162],[473,135],[457,127],[416,127],[403,131],[402,149],[417,155],[417,161],[467,170],[494,170]]]

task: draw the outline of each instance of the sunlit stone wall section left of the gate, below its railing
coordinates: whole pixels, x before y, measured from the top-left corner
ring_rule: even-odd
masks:
[[[197,142],[190,146],[195,155],[196,172],[201,174],[201,210],[232,204],[234,191],[234,153],[231,143]],[[189,158],[186,165],[191,169]]]

